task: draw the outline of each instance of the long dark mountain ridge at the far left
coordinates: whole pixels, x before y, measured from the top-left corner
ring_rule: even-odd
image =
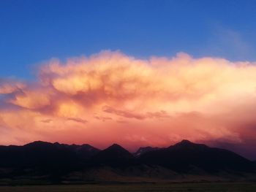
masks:
[[[23,146],[0,146],[0,166],[70,166],[91,158],[98,151],[90,145],[65,145],[41,141]]]

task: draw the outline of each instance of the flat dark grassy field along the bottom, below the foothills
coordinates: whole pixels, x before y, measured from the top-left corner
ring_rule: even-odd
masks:
[[[208,192],[255,192],[256,183],[168,183],[168,184],[88,184],[88,185],[31,185],[0,186],[1,192],[98,192],[98,191],[208,191]]]

